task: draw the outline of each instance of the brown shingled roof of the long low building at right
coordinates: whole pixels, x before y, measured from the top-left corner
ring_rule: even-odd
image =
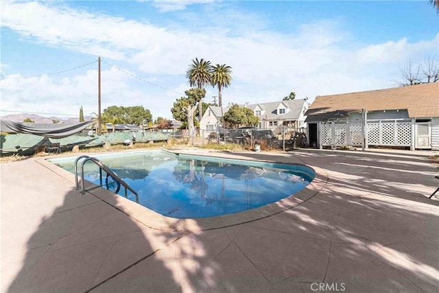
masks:
[[[392,89],[317,96],[307,110],[307,122],[346,117],[364,110],[407,109],[410,118],[439,117],[439,82]]]

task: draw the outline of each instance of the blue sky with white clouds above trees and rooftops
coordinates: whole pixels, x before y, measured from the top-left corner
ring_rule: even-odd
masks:
[[[171,118],[194,58],[233,68],[223,104],[255,104],[393,87],[409,60],[439,55],[427,0],[2,1],[0,13],[0,116],[96,113],[98,56],[102,108]]]

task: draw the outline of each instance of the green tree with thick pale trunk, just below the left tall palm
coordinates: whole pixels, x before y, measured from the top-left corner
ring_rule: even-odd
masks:
[[[200,104],[200,100],[206,95],[205,89],[189,89],[185,91],[186,97],[180,97],[174,102],[171,108],[172,117],[179,121],[187,121],[187,128],[189,129],[189,138],[193,136],[195,130],[194,113],[196,104]]]

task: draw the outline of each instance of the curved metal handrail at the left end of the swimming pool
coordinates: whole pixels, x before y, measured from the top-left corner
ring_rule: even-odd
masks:
[[[97,167],[99,167],[99,186],[102,187],[102,170],[104,170],[106,172],[106,174],[110,175],[114,180],[116,180],[119,184],[123,185],[123,187],[125,187],[125,197],[128,197],[127,194],[127,190],[131,191],[132,194],[134,194],[134,196],[136,196],[136,202],[139,202],[139,194],[137,194],[136,191],[134,191],[134,189],[132,189],[130,187],[130,185],[128,185],[125,181],[123,181],[121,178],[119,178],[119,176],[117,176],[117,174],[115,174],[115,172],[112,172],[112,170],[105,165],[104,163],[102,163],[101,161],[99,161],[99,159],[94,158],[93,156],[86,156],[86,155],[82,155],[82,156],[78,156],[78,158],[75,159],[75,185],[76,185],[76,190],[79,189],[79,183],[78,183],[78,161],[80,161],[80,159],[84,159],[84,161],[82,161],[81,163],[81,194],[85,194],[85,191],[87,190],[91,190],[91,189],[85,189],[85,180],[84,180],[84,164],[88,161],[92,161],[93,163],[95,163],[95,165],[97,165]]]

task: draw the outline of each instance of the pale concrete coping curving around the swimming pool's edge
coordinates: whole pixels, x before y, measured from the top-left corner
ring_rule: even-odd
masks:
[[[187,155],[196,155],[196,156],[206,156],[213,158],[223,158],[223,159],[238,159],[239,153],[222,153],[222,152],[197,152],[196,154],[189,150],[169,150],[168,152],[174,154],[187,154]],[[81,154],[78,154],[80,156]],[[93,154],[91,154],[93,156]],[[76,156],[76,155],[73,155]],[[47,161],[49,158],[38,159],[37,163],[47,167],[52,172],[58,174],[58,176],[62,176],[62,178],[68,180],[73,185],[75,185],[75,175],[71,172],[68,172],[61,167],[56,166],[53,163]],[[238,160],[243,160],[239,158]],[[258,159],[244,159],[245,161],[254,161],[254,162],[264,162],[263,160]],[[283,163],[287,165],[292,165],[293,163],[285,163],[281,161],[275,161],[270,163]],[[293,165],[305,165],[300,163],[294,163]],[[97,187],[90,191],[86,191],[87,194],[91,194],[100,200],[110,204],[115,209],[125,213],[133,220],[159,231],[178,231],[178,232],[194,232],[194,231],[206,231],[213,230],[217,228],[225,228],[228,226],[235,226],[238,224],[244,224],[248,222],[253,222],[255,220],[260,220],[263,218],[268,218],[272,215],[276,215],[278,213],[282,213],[283,211],[287,211],[298,205],[306,202],[313,196],[316,196],[327,184],[328,175],[324,169],[312,165],[305,165],[307,167],[311,167],[311,169],[316,172],[316,177],[305,187],[298,191],[298,193],[288,196],[287,198],[283,198],[282,200],[278,200],[272,204],[267,204],[263,207],[259,207],[256,209],[250,209],[248,211],[241,211],[239,213],[233,213],[228,215],[219,215],[211,218],[195,218],[195,219],[177,219],[177,218],[169,218],[165,215],[161,215],[160,213],[156,213],[151,209],[147,209],[147,207],[143,207],[136,202],[132,202],[128,200],[128,198],[124,198],[123,196],[115,195],[111,191],[103,187]],[[86,188],[95,187],[93,183],[86,183]],[[78,195],[82,196],[80,190],[78,190]]]

